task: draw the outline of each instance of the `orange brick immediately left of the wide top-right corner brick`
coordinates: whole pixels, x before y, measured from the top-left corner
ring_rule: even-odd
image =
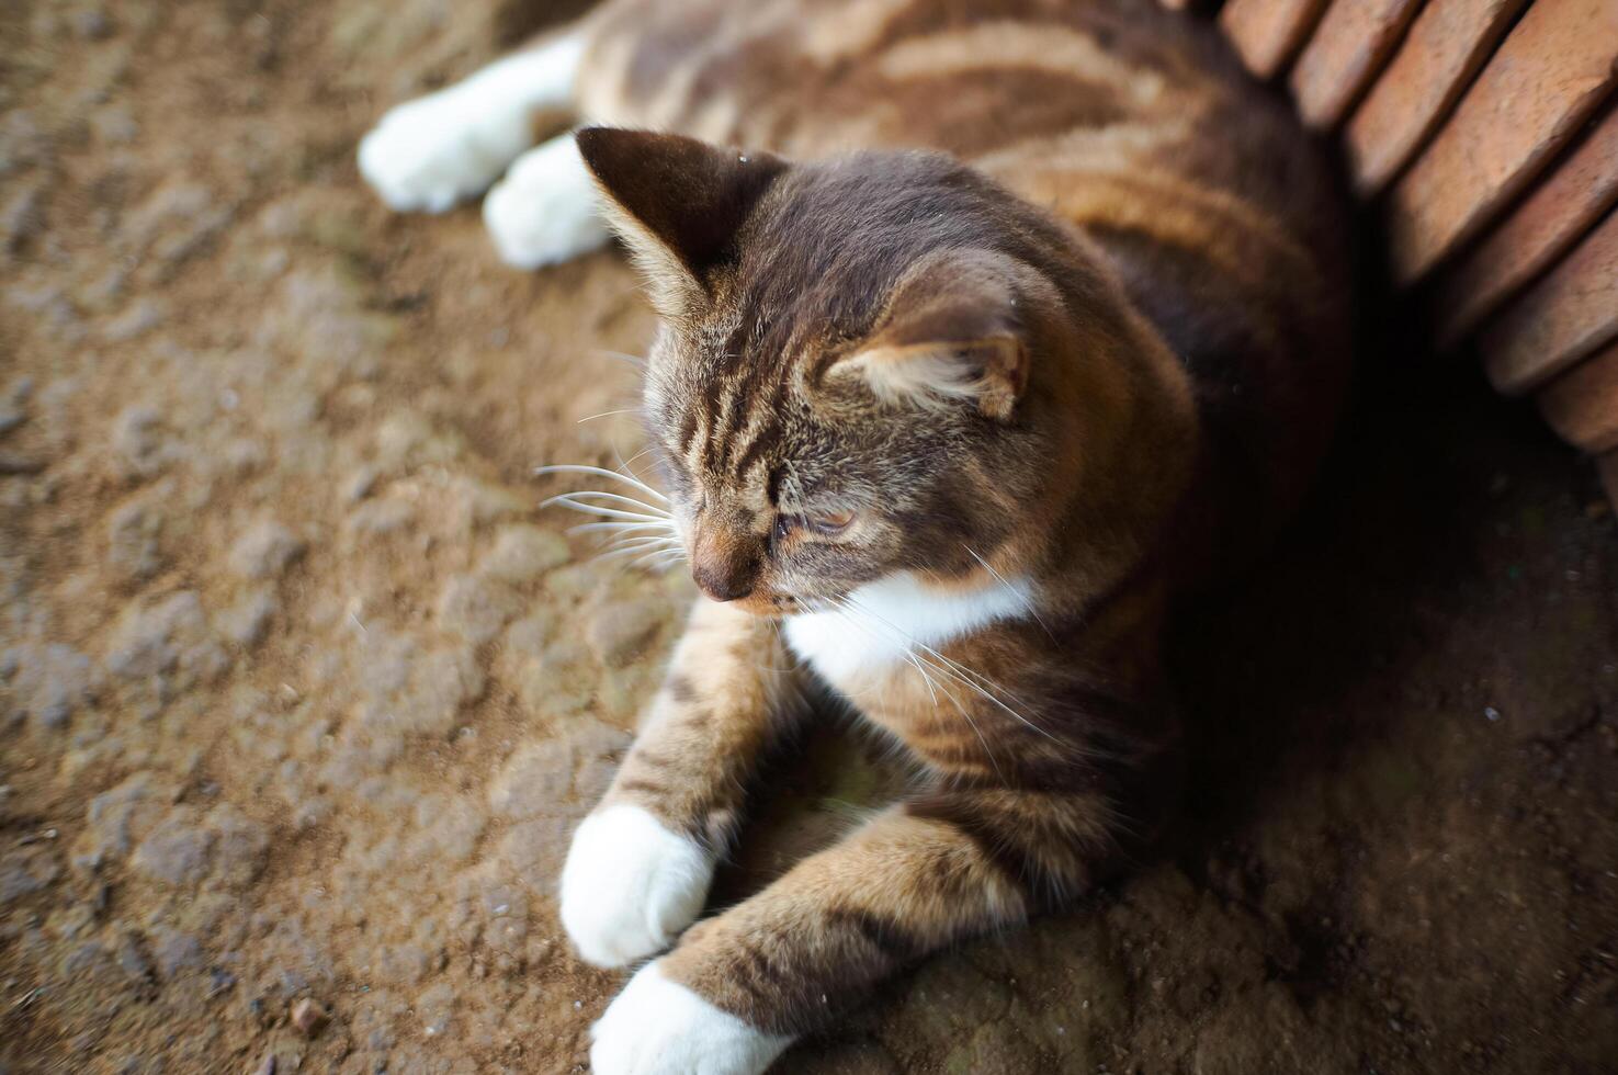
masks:
[[[1343,128],[1354,191],[1375,194],[1472,84],[1526,0],[1430,0]]]

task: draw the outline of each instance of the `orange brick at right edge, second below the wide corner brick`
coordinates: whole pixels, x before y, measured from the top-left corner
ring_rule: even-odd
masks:
[[[1477,335],[1489,380],[1519,395],[1618,335],[1618,212]]]

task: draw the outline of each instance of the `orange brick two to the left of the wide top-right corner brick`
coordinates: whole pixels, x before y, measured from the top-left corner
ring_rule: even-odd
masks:
[[[1382,70],[1421,0],[1335,0],[1293,66],[1298,115],[1317,131],[1335,128]]]

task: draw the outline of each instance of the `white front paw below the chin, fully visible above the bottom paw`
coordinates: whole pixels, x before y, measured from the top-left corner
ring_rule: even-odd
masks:
[[[696,921],[714,855],[639,806],[608,806],[573,834],[561,926],[586,962],[623,967],[662,952]]]

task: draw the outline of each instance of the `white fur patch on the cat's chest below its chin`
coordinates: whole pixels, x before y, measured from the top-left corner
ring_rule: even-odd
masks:
[[[841,612],[786,620],[786,644],[832,685],[882,672],[908,654],[937,649],[997,620],[1029,615],[1032,586],[1013,578],[982,589],[945,593],[900,573],[856,589]]]

